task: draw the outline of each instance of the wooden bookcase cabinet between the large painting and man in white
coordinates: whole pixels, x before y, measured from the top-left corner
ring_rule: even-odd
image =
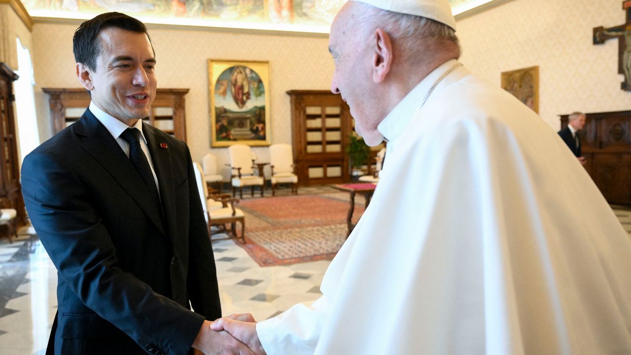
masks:
[[[350,181],[348,137],[355,133],[350,109],[340,95],[324,90],[290,90],[295,171],[300,184]],[[370,162],[384,143],[370,148]],[[369,167],[365,170],[370,171]]]

